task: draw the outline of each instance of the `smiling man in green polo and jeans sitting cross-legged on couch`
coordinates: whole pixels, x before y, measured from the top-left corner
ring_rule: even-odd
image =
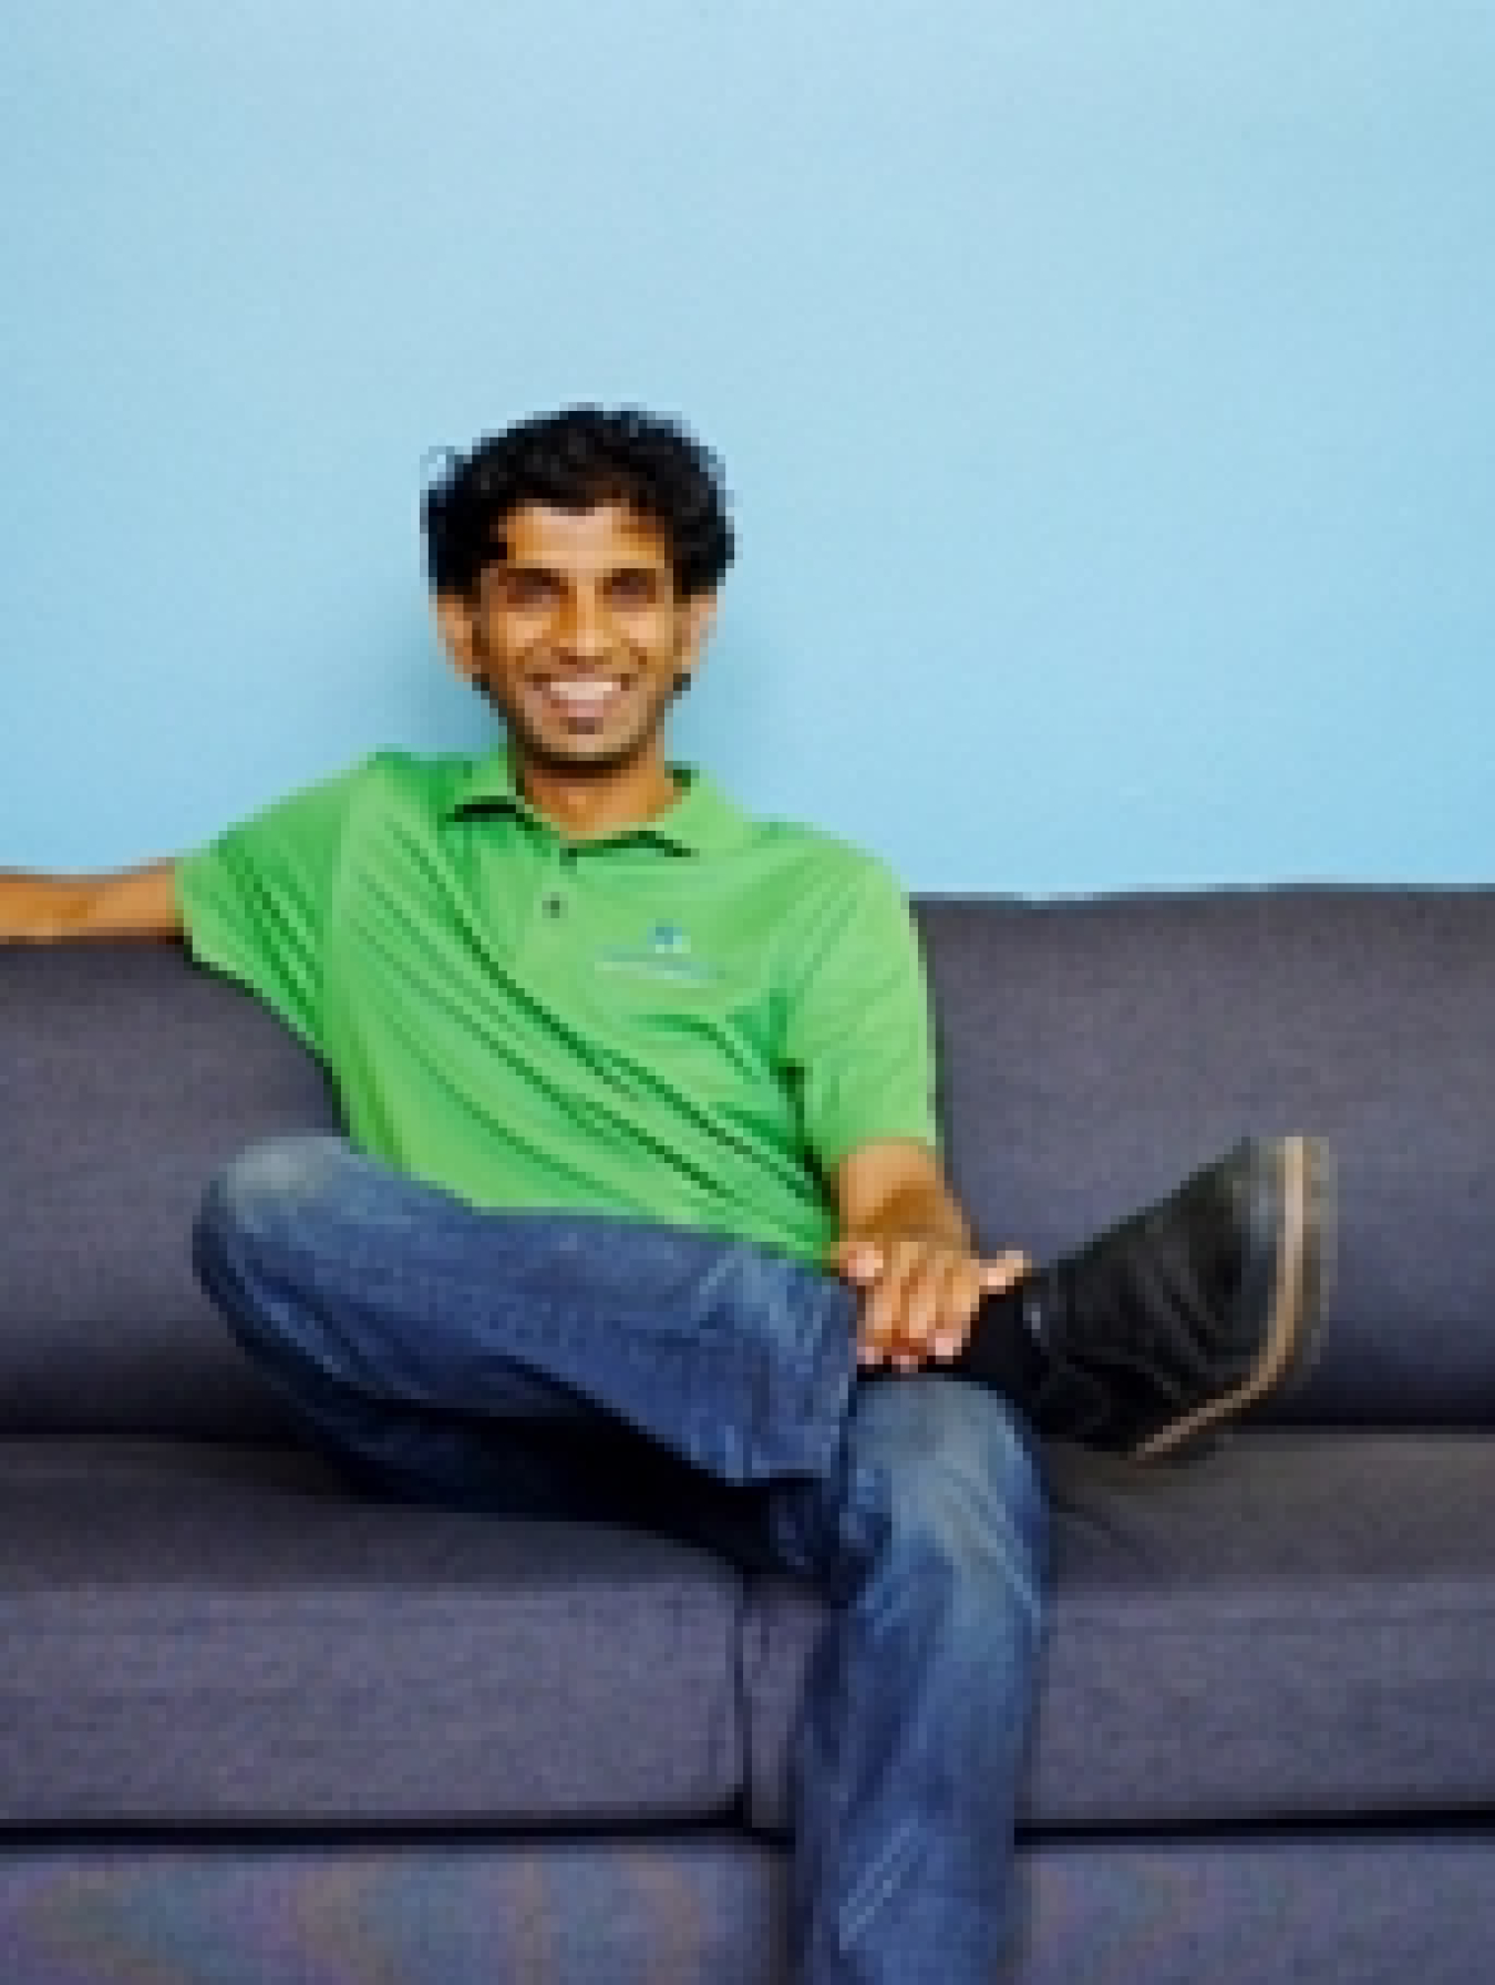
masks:
[[[381,754],[123,877],[4,877],[0,933],[185,933],[302,1034],[347,1139],[246,1153],[195,1233],[248,1354],[371,1491],[816,1580],[794,1975],[991,1979],[1040,1640],[1028,1429],[1146,1459],[1277,1386],[1326,1153],[1243,1145],[1044,1270],[983,1253],[901,893],[669,762],[733,556],[713,459],[572,409],[455,459],[425,528],[504,750]]]

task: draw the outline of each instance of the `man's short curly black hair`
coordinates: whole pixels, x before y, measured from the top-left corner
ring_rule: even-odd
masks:
[[[635,409],[566,407],[449,457],[421,504],[433,590],[471,597],[502,556],[504,520],[528,502],[627,504],[665,534],[687,599],[715,592],[733,562],[721,464],[685,427]]]

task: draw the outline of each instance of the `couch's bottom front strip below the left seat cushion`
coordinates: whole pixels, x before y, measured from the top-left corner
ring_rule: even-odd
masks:
[[[780,1985],[776,1854],[729,1834],[0,1854],[6,1985]]]

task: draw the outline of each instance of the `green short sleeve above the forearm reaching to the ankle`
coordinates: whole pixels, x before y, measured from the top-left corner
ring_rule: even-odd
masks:
[[[830,1173],[880,1139],[939,1141],[929,989],[907,899],[862,858],[810,891],[784,1052],[806,1149]]]

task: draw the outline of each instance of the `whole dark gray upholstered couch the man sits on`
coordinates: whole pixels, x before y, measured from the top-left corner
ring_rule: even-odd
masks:
[[[1050,1455],[1017,1975],[1495,1975],[1495,891],[919,917],[991,1243],[1340,1151],[1308,1388],[1185,1467]],[[298,1447],[187,1229],[330,1116],[175,947],[0,949],[0,1979],[780,1979],[816,1600]]]

